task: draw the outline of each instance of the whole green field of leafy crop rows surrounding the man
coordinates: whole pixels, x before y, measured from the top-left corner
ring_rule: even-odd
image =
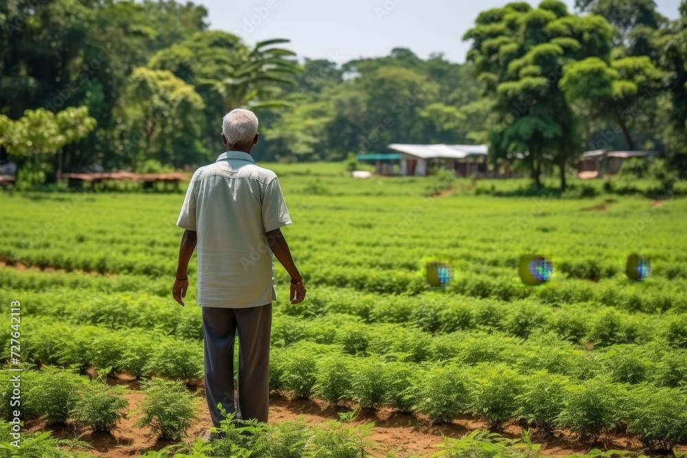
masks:
[[[563,439],[582,455],[594,447],[684,451],[686,199],[652,194],[648,181],[632,183],[637,192],[609,194],[630,185],[599,181],[527,196],[525,181],[458,181],[435,193],[431,178],[356,180],[340,164],[273,169],[294,222],[283,231],[308,288],[306,301],[289,304],[277,263],[275,396],[360,408],[373,420],[374,409],[392,410],[454,438],[466,431],[445,426],[469,420],[511,439],[480,433],[408,453],[376,444],[374,427],[346,414],[324,425],[252,426],[253,435],[227,426],[214,446],[184,439],[198,423],[194,409],[204,409],[194,391],[203,372],[196,266],[181,308],[170,290],[183,194],[154,192],[0,194],[0,341],[9,358],[10,303],[20,301],[25,425],[116,434],[127,415],[151,434],[185,440],[188,455],[177,456],[199,457],[243,457],[247,449],[251,457],[463,457],[480,444],[491,447],[484,457],[509,445],[514,456],[541,453],[517,448],[528,442],[512,439],[514,428],[531,428],[525,437],[536,435],[544,452]],[[550,282],[521,282],[517,262],[526,253],[552,261]],[[651,257],[650,279],[624,275],[631,253]],[[432,259],[453,267],[444,290],[427,289],[423,262]],[[141,383],[103,383],[122,374]],[[128,405],[139,388],[145,401]],[[0,411],[9,419],[12,391],[3,389]],[[55,455],[31,456],[118,450],[32,434],[36,450]],[[433,434],[429,442],[442,444]],[[162,445],[134,452],[168,456],[154,451]]]

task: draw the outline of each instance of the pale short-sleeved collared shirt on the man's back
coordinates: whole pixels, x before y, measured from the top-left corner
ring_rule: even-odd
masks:
[[[265,232],[291,224],[271,170],[230,151],[188,184],[177,226],[197,232],[198,304],[248,308],[277,299]]]

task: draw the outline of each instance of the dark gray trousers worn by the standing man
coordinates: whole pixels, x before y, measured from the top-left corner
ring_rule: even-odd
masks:
[[[205,398],[214,426],[223,420],[217,404],[239,420],[267,422],[269,334],[272,304],[203,309]],[[234,406],[234,337],[238,331],[238,404]]]

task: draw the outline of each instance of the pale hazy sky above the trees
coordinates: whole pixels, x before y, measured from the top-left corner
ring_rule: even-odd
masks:
[[[328,58],[339,63],[359,57],[387,56],[407,47],[422,58],[441,52],[464,62],[469,43],[462,36],[477,14],[506,0],[195,0],[209,12],[210,28],[243,36],[253,45],[289,38],[302,60]],[[539,1],[530,1],[533,5]],[[574,10],[574,0],[565,0]],[[664,16],[679,16],[679,0],[656,0]]]

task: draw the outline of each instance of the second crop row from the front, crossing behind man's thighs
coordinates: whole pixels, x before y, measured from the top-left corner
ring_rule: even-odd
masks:
[[[182,339],[158,329],[76,325],[54,317],[25,317],[23,323],[22,355],[33,363],[112,367],[135,376],[202,377],[203,347],[198,339]],[[0,331],[5,356],[9,356],[9,342],[10,331]],[[677,386],[687,376],[687,349],[666,341],[589,351],[554,332],[536,332],[526,340],[495,330],[434,335],[397,324],[365,325],[350,315],[332,314],[303,322],[278,315],[271,343],[273,351],[307,344],[306,350],[300,350],[304,358],[313,358],[308,352],[319,348],[402,363],[507,363],[525,372],[546,369],[580,380],[605,374],[619,382],[668,387]]]

